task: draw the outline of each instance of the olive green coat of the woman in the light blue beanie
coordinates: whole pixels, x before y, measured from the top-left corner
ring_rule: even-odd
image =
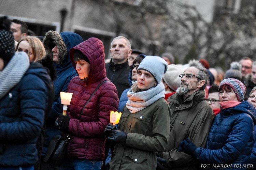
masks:
[[[155,170],[156,153],[167,146],[170,108],[164,98],[136,113],[125,107],[119,129],[127,133],[126,143],[115,145],[111,170]]]

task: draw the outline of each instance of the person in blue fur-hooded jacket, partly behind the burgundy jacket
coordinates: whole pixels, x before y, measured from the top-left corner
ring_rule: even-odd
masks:
[[[60,102],[60,92],[66,92],[69,81],[77,76],[70,61],[69,50],[81,42],[83,42],[82,37],[76,33],[58,33],[56,31],[46,32],[43,40],[47,55],[52,56],[53,58],[53,65],[56,70],[57,78],[53,81],[55,98],[49,117],[46,121],[46,131],[41,157],[42,169],[49,169],[49,167],[45,167],[46,164],[44,164],[43,158],[50,141],[54,136],[60,135],[60,131],[57,130],[54,125],[59,114],[62,114],[63,105],[61,105]]]

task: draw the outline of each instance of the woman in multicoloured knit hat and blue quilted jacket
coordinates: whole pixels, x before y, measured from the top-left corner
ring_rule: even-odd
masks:
[[[189,139],[180,143],[179,151],[194,156],[208,169],[246,169],[254,145],[256,109],[243,101],[246,88],[237,79],[219,84],[221,112],[214,118],[206,148],[197,148]]]

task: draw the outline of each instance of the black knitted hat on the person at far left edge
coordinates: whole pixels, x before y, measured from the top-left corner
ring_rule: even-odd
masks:
[[[14,55],[14,37],[10,29],[11,21],[7,16],[0,17],[0,58],[6,65]]]

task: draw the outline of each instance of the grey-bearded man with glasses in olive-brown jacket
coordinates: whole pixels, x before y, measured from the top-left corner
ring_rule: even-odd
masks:
[[[209,81],[205,68],[185,69],[176,94],[167,99],[171,108],[170,136],[166,152],[159,153],[159,169],[196,169],[197,160],[184,152],[177,152],[180,142],[189,138],[197,147],[205,147],[214,113],[205,101],[204,89]]]

